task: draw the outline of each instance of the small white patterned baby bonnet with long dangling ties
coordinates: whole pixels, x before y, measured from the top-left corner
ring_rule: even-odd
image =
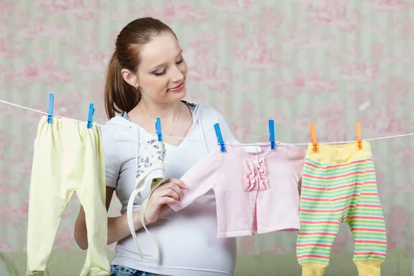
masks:
[[[158,262],[158,246],[155,243],[154,239],[150,235],[145,224],[145,210],[148,204],[148,199],[152,195],[152,191],[164,181],[164,158],[166,156],[166,147],[164,146],[163,141],[158,141],[155,138],[150,139],[147,144],[144,152],[142,152],[141,157],[137,158],[138,168],[137,168],[137,179],[135,181],[135,190],[132,191],[130,199],[128,201],[128,206],[126,209],[128,226],[131,231],[132,238],[134,239],[135,244],[137,244],[138,253],[141,256],[141,259],[144,259],[144,253],[139,246],[137,240],[137,234],[135,233],[134,222],[132,221],[132,206],[137,197],[138,193],[143,190],[146,190],[150,184],[150,195],[144,200],[141,206],[141,223],[144,226],[150,242],[152,243],[153,253],[152,260]]]

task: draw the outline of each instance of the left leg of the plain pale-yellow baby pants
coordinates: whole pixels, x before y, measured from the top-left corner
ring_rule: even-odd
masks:
[[[62,181],[64,150],[59,121],[42,117],[37,128],[30,179],[26,275],[43,275],[55,241],[61,214],[73,195]]]

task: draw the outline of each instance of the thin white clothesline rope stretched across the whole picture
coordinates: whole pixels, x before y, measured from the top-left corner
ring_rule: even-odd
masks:
[[[8,104],[10,106],[16,106],[18,108],[23,108],[23,109],[30,110],[30,111],[33,111],[33,112],[37,112],[37,113],[41,113],[41,114],[44,114],[44,115],[48,115],[47,112],[43,112],[43,111],[36,110],[36,109],[33,109],[33,108],[28,108],[26,106],[20,106],[20,105],[18,105],[16,103],[10,103],[9,101],[2,101],[2,100],[0,100],[0,102],[1,103],[6,103],[6,104]],[[80,121],[80,120],[77,120],[77,119],[72,119],[72,118],[68,118],[68,117],[58,116],[58,115],[55,115],[55,114],[53,115],[53,117],[70,119],[70,120],[73,120],[73,121],[78,121],[80,123],[85,123],[86,124],[86,121]],[[124,128],[115,128],[113,126],[105,126],[105,125],[100,125],[100,124],[96,124],[96,123],[92,123],[92,124],[94,126],[99,126],[101,128],[114,128],[114,129],[118,129],[118,130],[124,130]],[[136,132],[137,130],[128,130],[128,131]],[[156,137],[157,136],[156,134],[145,133],[145,132],[140,133],[140,135],[141,134],[150,135],[150,136],[153,136],[153,137]],[[401,135],[391,135],[391,136],[384,136],[384,137],[364,139],[364,141],[374,141],[374,140],[390,139],[390,138],[396,138],[396,137],[406,137],[406,136],[411,136],[411,135],[414,135],[414,132],[413,133],[401,134]],[[187,140],[187,141],[197,141],[197,142],[206,143],[206,144],[217,144],[217,141],[200,141],[200,140],[196,140],[196,139],[181,138],[181,137],[175,137],[175,136],[170,136],[170,135],[163,135],[163,137],[169,137],[169,138],[173,138],[173,139],[180,139],[180,140]],[[355,142],[355,140],[354,141],[318,142],[318,144],[348,144],[348,143],[353,143],[353,142]],[[230,144],[230,143],[225,143],[225,144],[226,145],[232,145],[232,146],[238,146],[239,145],[239,144]],[[250,146],[255,146],[257,144],[269,144],[269,143],[254,143],[254,144],[244,144],[243,143],[243,145],[246,145],[246,146],[249,146],[249,145]],[[290,143],[282,143],[282,144],[290,144]],[[299,143],[299,144],[290,144],[290,145],[293,145],[293,146],[307,146],[308,144],[309,143]]]

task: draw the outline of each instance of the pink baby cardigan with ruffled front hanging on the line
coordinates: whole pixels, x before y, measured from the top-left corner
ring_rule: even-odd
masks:
[[[181,181],[181,210],[208,190],[215,192],[217,237],[240,237],[277,230],[300,230],[299,190],[306,150],[277,142],[275,150],[247,152],[226,145],[197,162]]]

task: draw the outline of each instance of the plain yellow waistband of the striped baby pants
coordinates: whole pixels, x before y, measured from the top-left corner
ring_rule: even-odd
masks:
[[[308,144],[306,158],[317,161],[320,164],[345,164],[355,159],[372,157],[371,144],[362,141],[362,149],[359,150],[357,142],[345,145],[318,144],[319,151],[313,152],[313,144]]]

